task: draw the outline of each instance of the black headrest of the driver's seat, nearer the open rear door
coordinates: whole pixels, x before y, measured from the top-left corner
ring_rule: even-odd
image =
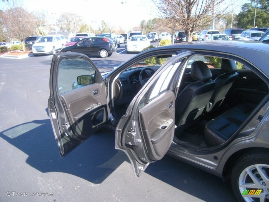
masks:
[[[196,81],[208,81],[212,78],[211,71],[203,61],[195,61],[191,66],[192,79]]]

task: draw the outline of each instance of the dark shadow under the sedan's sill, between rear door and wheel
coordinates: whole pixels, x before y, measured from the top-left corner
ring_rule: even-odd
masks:
[[[237,201],[228,181],[170,156],[151,163],[145,172],[204,201]]]

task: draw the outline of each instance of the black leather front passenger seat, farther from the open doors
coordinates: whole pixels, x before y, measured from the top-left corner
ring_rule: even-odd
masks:
[[[210,99],[211,106],[209,106],[208,111],[213,109],[214,106],[221,105],[233,82],[239,77],[239,74],[236,72],[237,65],[235,61],[222,58],[221,70],[225,73],[215,79],[216,87]]]

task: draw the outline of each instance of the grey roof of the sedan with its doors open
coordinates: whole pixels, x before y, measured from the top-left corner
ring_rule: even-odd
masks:
[[[198,41],[198,42],[182,42],[166,46],[159,46],[146,51],[153,50],[171,50],[171,51],[186,51],[186,50],[201,50],[209,51],[213,53],[223,52],[229,55],[237,55],[245,58],[256,67],[259,67],[261,71],[269,75],[269,46],[266,43],[260,41],[221,41],[221,42],[210,42],[210,41]],[[255,52],[255,54],[253,54]],[[264,65],[261,65],[264,64]]]

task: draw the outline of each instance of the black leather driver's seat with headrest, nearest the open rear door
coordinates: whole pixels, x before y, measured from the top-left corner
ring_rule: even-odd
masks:
[[[203,61],[192,63],[191,76],[196,82],[187,85],[176,98],[175,124],[179,131],[204,113],[215,89],[211,71]]]

